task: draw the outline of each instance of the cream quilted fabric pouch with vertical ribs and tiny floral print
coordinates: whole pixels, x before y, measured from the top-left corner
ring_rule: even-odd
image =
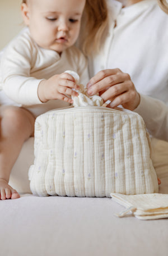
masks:
[[[36,118],[30,188],[40,196],[157,193],[142,118],[105,107],[66,108]]]

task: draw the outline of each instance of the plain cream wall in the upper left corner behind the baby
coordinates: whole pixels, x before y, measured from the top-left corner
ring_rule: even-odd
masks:
[[[0,0],[0,50],[23,28],[21,0]]]

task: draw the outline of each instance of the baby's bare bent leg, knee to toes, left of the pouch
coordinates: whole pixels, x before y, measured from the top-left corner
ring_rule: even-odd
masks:
[[[24,141],[34,136],[34,116],[24,108],[0,107],[0,199],[16,199],[20,195],[8,185],[12,167]]]

